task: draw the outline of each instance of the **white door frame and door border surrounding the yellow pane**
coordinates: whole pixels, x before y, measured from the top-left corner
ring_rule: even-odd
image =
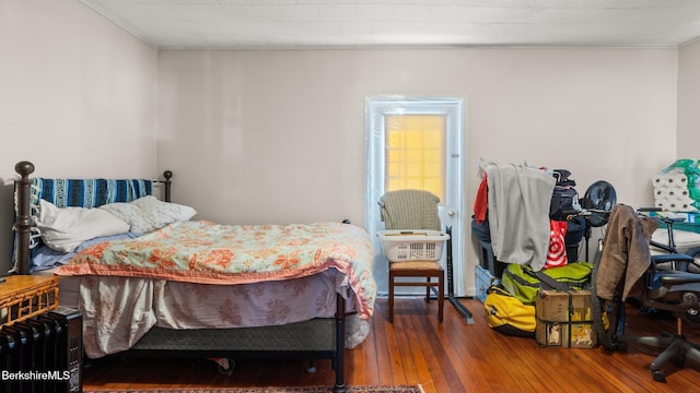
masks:
[[[445,201],[441,206],[440,216],[443,225],[452,227],[453,284],[454,295],[466,295],[465,254],[466,254],[466,210],[464,192],[465,171],[465,98],[462,97],[431,97],[431,96],[372,96],[365,98],[365,218],[364,227],[374,245],[373,274],[384,293],[388,287],[388,272],[386,260],[382,252],[382,245],[376,236],[384,225],[377,201],[384,193],[384,122],[385,115],[445,115],[447,117],[446,134],[446,174]],[[447,212],[455,212],[450,216]],[[443,266],[445,253],[443,253]]]

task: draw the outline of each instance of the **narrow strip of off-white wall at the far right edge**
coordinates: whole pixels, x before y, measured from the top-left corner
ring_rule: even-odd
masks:
[[[678,157],[700,158],[700,41],[678,51]]]

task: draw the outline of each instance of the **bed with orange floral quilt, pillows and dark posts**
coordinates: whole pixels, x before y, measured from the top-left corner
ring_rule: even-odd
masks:
[[[31,177],[28,162],[15,170],[10,273],[60,276],[60,305],[81,311],[89,358],[330,359],[334,392],[345,391],[345,349],[366,336],[376,298],[363,228],[192,219],[194,209],[171,202],[171,171],[148,180]]]

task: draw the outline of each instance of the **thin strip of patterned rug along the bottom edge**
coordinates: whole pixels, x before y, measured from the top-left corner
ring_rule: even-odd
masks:
[[[149,388],[83,390],[83,393],[329,393],[331,386],[300,388]],[[347,393],[423,393],[420,385],[347,386]]]

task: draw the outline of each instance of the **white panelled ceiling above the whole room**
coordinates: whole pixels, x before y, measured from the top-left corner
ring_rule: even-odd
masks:
[[[161,48],[678,47],[698,0],[81,0]]]

